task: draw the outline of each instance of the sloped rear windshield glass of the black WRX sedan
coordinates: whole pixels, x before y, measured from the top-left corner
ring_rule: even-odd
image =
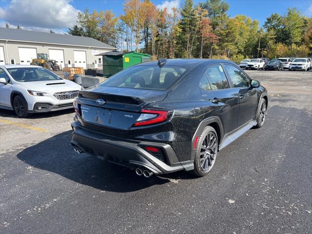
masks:
[[[100,86],[165,90],[175,84],[189,68],[182,66],[134,66],[125,69]]]

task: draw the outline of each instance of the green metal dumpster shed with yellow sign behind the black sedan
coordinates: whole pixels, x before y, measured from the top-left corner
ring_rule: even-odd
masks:
[[[131,67],[141,62],[151,60],[151,56],[147,54],[130,52],[110,51],[99,54],[103,56],[103,77],[109,78],[123,69]]]

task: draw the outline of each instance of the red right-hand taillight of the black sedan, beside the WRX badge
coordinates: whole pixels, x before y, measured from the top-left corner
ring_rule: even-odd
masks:
[[[141,113],[142,114],[137,118],[137,121],[132,126],[137,127],[161,123],[166,121],[168,117],[168,111],[163,110],[143,109]]]

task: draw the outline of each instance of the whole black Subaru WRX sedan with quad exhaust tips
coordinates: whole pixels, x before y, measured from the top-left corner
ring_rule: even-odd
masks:
[[[233,62],[145,62],[79,91],[72,145],[139,176],[205,176],[219,150],[263,125],[267,105],[266,89]]]

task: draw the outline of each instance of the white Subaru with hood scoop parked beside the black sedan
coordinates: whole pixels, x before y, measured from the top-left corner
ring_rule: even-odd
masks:
[[[0,66],[0,108],[19,117],[73,108],[81,86],[34,65]]]

